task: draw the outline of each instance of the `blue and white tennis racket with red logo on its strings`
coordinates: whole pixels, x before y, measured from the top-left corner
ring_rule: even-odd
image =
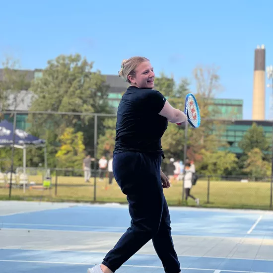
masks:
[[[201,124],[201,116],[198,103],[193,94],[188,94],[185,100],[185,111],[184,113],[188,117],[188,122],[193,128],[198,128]],[[181,125],[182,123],[177,123]]]

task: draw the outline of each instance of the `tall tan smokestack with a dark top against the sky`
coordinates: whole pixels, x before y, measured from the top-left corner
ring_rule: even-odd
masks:
[[[252,119],[265,120],[266,50],[262,45],[255,49]]]

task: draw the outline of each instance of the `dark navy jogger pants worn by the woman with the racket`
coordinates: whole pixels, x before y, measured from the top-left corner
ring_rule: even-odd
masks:
[[[138,152],[114,154],[113,173],[127,195],[131,226],[102,264],[115,272],[152,239],[166,273],[179,273],[180,264],[171,236],[171,220],[160,180],[161,157]]]

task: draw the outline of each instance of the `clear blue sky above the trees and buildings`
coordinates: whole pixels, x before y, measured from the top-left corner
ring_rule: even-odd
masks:
[[[117,74],[123,59],[140,55],[177,82],[193,80],[198,65],[214,65],[223,86],[216,97],[243,99],[243,118],[251,119],[257,45],[265,44],[266,65],[273,65],[272,14],[273,0],[3,1],[0,59],[13,56],[34,69],[80,53],[94,69]]]

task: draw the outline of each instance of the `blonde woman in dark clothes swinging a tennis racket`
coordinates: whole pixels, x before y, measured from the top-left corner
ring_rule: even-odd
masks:
[[[151,239],[164,271],[180,273],[163,194],[170,183],[161,170],[161,137],[168,122],[186,122],[187,116],[153,89],[154,72],[148,59],[124,60],[119,75],[130,86],[118,107],[113,174],[127,196],[132,220],[102,264],[88,273],[114,273]]]

